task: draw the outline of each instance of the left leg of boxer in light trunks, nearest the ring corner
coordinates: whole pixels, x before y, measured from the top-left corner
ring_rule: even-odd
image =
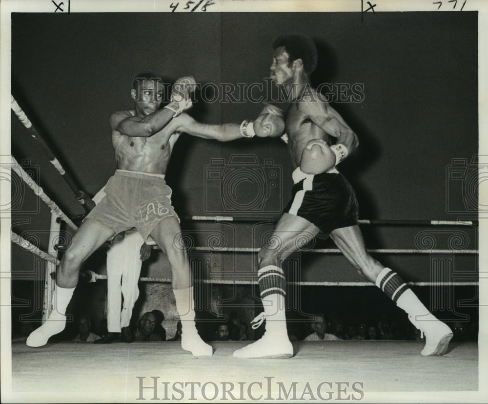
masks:
[[[112,229],[94,219],[87,218],[81,224],[58,268],[52,301],[53,311],[46,322],[29,335],[26,341],[28,346],[45,345],[50,337],[64,329],[66,307],[78,283],[82,262],[114,233]]]

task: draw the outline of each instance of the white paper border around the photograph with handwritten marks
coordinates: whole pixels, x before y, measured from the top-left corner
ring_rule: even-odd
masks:
[[[361,12],[361,0],[213,0],[215,4],[208,8],[207,12]],[[60,3],[61,1],[57,1]],[[64,1],[65,6],[68,1]],[[96,1],[96,0],[71,0],[70,13],[100,13],[100,12],[171,12],[169,4],[171,0],[142,0],[142,1]],[[174,1],[176,2],[176,1]],[[436,11],[437,1],[432,0],[372,0],[376,4],[377,12],[402,12],[402,11]],[[438,12],[456,11],[452,10],[453,3],[442,0],[442,6]],[[463,1],[458,0],[457,9]],[[364,1],[366,5],[366,0]],[[11,19],[12,12],[41,12],[51,13],[54,11],[54,4],[51,0],[2,0],[0,3],[0,122],[1,122],[1,158],[10,152],[10,54],[11,54]],[[488,155],[488,106],[487,106],[487,78],[488,78],[488,2],[486,0],[467,0],[463,11],[478,10],[479,28],[479,154]],[[457,12],[463,12],[457,11]],[[181,9],[176,12],[185,12]],[[2,161],[4,163],[4,161]],[[7,162],[8,163],[8,162]],[[481,179],[481,177],[480,177]],[[487,191],[480,184],[480,192]],[[487,193],[480,194],[480,207],[485,208],[483,203],[487,201]],[[0,203],[1,206],[10,201],[10,187],[1,182]],[[483,204],[483,206],[482,206]],[[367,398],[362,402],[376,403],[486,403],[488,402],[488,273],[487,249],[487,218],[481,218],[479,222],[479,268],[480,268],[480,329],[479,329],[479,391],[477,392],[405,392],[402,393],[401,401],[399,396],[392,392],[368,392]],[[7,232],[10,229],[10,218],[1,217],[1,284],[0,284],[0,318],[1,318],[1,396],[2,402],[36,402],[35,395],[21,395],[11,391],[11,313],[10,313],[10,236]],[[483,275],[484,274],[484,275]],[[482,276],[485,276],[483,278]]]

